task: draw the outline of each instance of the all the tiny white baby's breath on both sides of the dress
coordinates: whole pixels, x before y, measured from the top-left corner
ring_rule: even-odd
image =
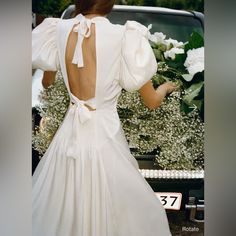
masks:
[[[138,92],[122,91],[118,113],[134,155],[154,153],[163,169],[196,170],[203,168],[204,123],[198,112],[180,110],[181,91],[174,91],[156,110],[142,103]],[[33,133],[33,146],[43,155],[61,124],[69,96],[61,72],[54,84],[41,92],[37,107],[42,121]]]

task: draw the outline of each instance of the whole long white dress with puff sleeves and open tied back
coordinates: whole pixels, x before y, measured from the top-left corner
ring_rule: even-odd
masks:
[[[65,48],[75,23],[96,26],[96,96],[89,111],[70,92]],[[71,101],[33,175],[33,236],[170,236],[165,209],[138,170],[117,114],[122,88],[138,90],[157,70],[148,29],[79,14],[46,18],[32,32],[33,68],[61,70]],[[74,62],[83,66],[82,40]]]

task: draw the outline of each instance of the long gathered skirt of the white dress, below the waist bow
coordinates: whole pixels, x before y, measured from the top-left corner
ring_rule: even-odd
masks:
[[[32,235],[170,236],[165,209],[122,130],[94,145],[83,135],[94,125],[91,119],[80,132],[83,145],[71,149],[68,115],[40,160],[33,175]]]

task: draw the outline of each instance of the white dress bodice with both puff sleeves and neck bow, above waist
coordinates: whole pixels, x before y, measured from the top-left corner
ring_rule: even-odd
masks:
[[[80,101],[69,89],[65,50],[73,29],[78,33],[78,40],[72,63],[83,67],[82,43],[84,38],[90,37],[92,24],[96,29],[97,78],[95,98],[87,103],[96,109],[115,110],[122,88],[138,90],[157,70],[157,62],[148,42],[148,29],[140,23],[127,21],[125,25],[112,24],[106,17],[88,19],[82,14],[67,20],[46,18],[32,32],[33,68],[46,71],[60,69],[71,100],[83,106],[86,101]]]

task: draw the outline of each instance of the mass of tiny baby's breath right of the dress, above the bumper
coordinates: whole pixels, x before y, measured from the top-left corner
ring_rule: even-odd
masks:
[[[182,112],[180,100],[181,92],[175,91],[150,111],[138,92],[123,91],[118,102],[122,126],[133,155],[154,154],[163,169],[202,169],[204,123],[197,109]]]

